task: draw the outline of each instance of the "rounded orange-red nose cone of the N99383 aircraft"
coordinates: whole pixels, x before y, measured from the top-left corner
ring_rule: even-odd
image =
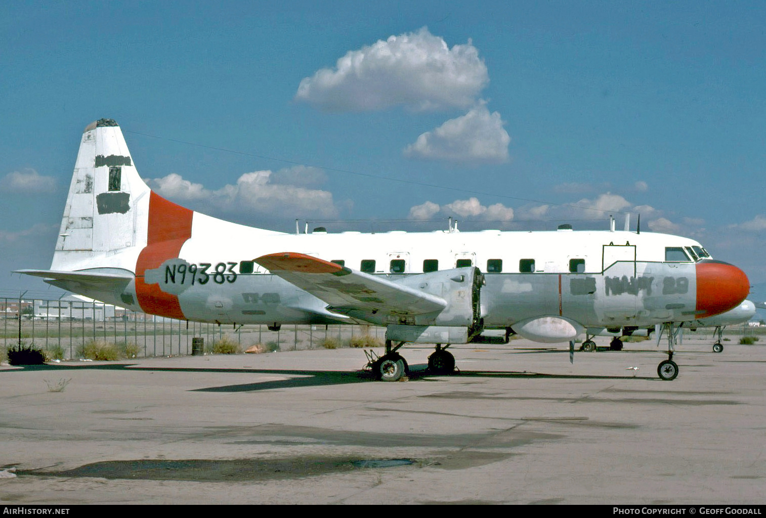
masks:
[[[745,300],[749,291],[748,276],[733,264],[722,261],[697,263],[697,318],[731,310]]]

